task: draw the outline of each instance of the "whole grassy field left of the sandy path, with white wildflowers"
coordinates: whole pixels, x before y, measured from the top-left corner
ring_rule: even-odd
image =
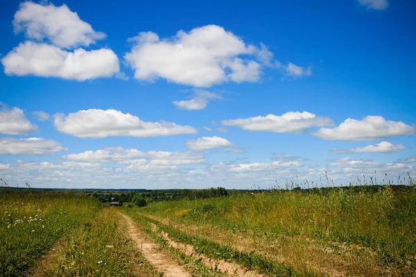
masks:
[[[85,194],[0,194],[0,238],[0,276],[159,276]]]

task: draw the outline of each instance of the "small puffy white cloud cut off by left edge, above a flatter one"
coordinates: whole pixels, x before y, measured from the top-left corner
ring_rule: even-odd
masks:
[[[37,127],[32,125],[24,115],[23,109],[13,107],[8,109],[0,102],[0,134],[26,135],[35,131]]]

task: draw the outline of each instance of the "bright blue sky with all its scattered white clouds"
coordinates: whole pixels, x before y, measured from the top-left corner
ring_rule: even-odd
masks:
[[[416,175],[415,12],[388,0],[6,1],[0,176],[250,188]]]

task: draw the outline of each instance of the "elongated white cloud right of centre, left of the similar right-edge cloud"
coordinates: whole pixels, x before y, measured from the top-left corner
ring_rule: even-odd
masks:
[[[281,116],[268,114],[267,116],[255,116],[250,118],[239,118],[234,120],[222,120],[226,126],[238,126],[249,131],[266,132],[303,132],[310,127],[331,126],[330,118],[316,116],[307,111],[289,111]]]

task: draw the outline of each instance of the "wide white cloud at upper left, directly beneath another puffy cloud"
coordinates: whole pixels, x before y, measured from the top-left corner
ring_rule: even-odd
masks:
[[[24,42],[8,53],[1,63],[7,75],[36,75],[71,80],[111,77],[119,72],[119,59],[108,49],[73,52],[48,44]]]

